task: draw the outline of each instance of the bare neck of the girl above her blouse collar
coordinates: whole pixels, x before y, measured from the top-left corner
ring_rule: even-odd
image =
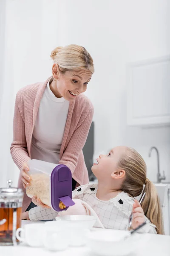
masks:
[[[96,192],[96,197],[99,200],[108,201],[111,198],[115,198],[120,192],[122,192],[120,188],[111,189],[108,185],[99,183]]]

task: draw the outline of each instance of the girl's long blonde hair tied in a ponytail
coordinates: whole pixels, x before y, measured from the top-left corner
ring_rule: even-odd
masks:
[[[132,197],[139,196],[146,192],[144,200],[141,203],[144,215],[156,225],[158,234],[164,234],[159,197],[156,192],[156,187],[146,177],[147,167],[142,156],[133,148],[127,148],[126,153],[124,153],[118,161],[118,168],[125,170],[126,173],[121,189]]]

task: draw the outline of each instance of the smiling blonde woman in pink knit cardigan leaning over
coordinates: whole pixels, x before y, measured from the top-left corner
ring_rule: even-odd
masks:
[[[82,148],[94,108],[82,93],[94,73],[93,59],[78,45],[57,47],[51,58],[52,76],[45,83],[22,88],[16,96],[11,156],[21,171],[18,186],[24,191],[23,212],[35,207],[25,190],[30,159],[68,166],[72,189],[76,183],[88,183]]]

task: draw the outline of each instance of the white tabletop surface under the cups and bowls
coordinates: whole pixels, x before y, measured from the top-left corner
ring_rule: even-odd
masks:
[[[40,223],[37,221],[36,223]],[[22,226],[32,223],[31,221],[22,221]],[[35,222],[34,222],[35,223]],[[41,222],[42,223],[42,222]],[[96,229],[94,229],[96,230]],[[147,245],[143,244],[140,251],[131,256],[170,256],[170,236],[147,234],[150,237]],[[94,253],[85,247],[69,247],[65,251],[50,252],[44,248],[28,247],[26,244],[19,246],[0,246],[0,256],[94,256]]]

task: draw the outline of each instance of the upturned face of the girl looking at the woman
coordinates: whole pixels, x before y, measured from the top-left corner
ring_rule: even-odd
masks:
[[[117,163],[126,152],[126,147],[119,146],[112,148],[109,154],[99,155],[97,163],[94,163],[91,170],[98,180],[110,179],[111,175],[117,172]]]

